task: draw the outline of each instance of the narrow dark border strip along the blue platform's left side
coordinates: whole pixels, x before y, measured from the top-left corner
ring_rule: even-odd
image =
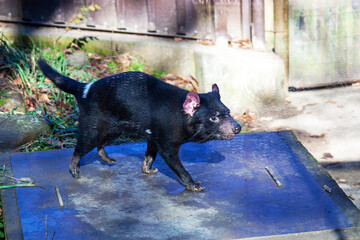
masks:
[[[10,154],[8,152],[0,151],[0,166],[5,166],[7,169],[9,169],[6,171],[6,173],[10,176],[13,176]],[[4,185],[14,183],[14,181],[10,178],[0,178]],[[24,239],[16,189],[2,189],[0,190],[0,196],[2,201],[6,239]]]

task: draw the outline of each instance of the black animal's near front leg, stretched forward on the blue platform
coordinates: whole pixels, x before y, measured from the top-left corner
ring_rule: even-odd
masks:
[[[199,182],[194,182],[190,174],[186,171],[179,158],[179,148],[167,148],[159,151],[167,165],[176,173],[180,178],[182,184],[185,185],[187,190],[194,192],[201,192],[205,188]]]

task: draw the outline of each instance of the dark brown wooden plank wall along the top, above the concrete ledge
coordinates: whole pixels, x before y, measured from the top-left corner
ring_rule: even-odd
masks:
[[[0,19],[65,27],[81,8],[98,4],[69,26],[216,41],[251,39],[251,0],[0,0]],[[260,5],[263,0],[260,0]],[[262,6],[263,7],[263,6]],[[259,10],[262,11],[263,8]]]

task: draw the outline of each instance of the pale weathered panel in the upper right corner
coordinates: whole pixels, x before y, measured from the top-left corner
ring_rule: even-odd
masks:
[[[289,2],[289,85],[360,79],[360,1]]]

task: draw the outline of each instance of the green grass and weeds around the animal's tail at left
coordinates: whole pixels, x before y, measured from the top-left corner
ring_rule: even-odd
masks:
[[[35,44],[16,48],[2,34],[0,36],[0,53],[6,56],[0,72],[6,71],[13,79],[18,79],[17,84],[23,89],[24,99],[30,102],[25,106],[25,113],[44,117],[54,126],[51,136],[42,136],[21,149],[37,151],[73,147],[78,111],[75,98],[71,94],[59,91],[54,84],[46,81],[45,76],[36,67],[36,59],[42,56],[53,62],[54,68],[60,73],[69,76],[77,74],[78,69],[70,68],[67,65],[63,49],[58,49],[54,45],[42,51]],[[85,74],[83,78],[86,77],[89,75]],[[0,89],[0,94],[5,94],[5,91]],[[43,95],[48,98],[46,102],[40,101]],[[3,102],[4,100],[1,100],[0,105]],[[15,114],[18,108],[12,109],[9,114]]]

